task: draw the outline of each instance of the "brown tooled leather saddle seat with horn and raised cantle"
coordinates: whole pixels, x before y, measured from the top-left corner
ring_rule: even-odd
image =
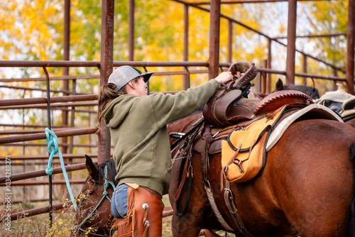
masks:
[[[251,81],[258,75],[253,62],[235,62],[228,71],[234,75],[234,80],[221,84],[202,111],[207,123],[214,128],[249,123],[257,116],[268,114],[284,104],[311,101],[306,94],[293,90],[275,92],[263,100],[250,92]]]

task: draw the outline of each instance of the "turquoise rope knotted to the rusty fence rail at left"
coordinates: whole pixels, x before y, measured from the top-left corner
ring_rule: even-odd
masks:
[[[72,204],[75,208],[75,211],[77,211],[77,204],[75,202],[74,196],[72,194],[72,189],[70,188],[70,183],[69,179],[67,177],[67,171],[65,170],[65,165],[62,157],[62,153],[60,152],[58,148],[58,137],[55,135],[52,129],[45,128],[45,137],[47,139],[48,143],[48,152],[50,153],[49,159],[48,159],[48,167],[45,169],[45,173],[47,175],[52,175],[53,172],[53,167],[52,167],[52,160],[53,156],[58,153],[59,159],[60,159],[60,166],[62,167],[62,172],[65,178],[65,183],[67,184],[67,190],[70,195],[70,199],[72,199]]]

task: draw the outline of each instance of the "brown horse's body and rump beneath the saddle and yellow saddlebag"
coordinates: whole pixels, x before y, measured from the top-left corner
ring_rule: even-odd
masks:
[[[186,133],[201,116],[195,114],[171,123],[168,130]],[[170,143],[173,141],[171,138]],[[198,236],[202,228],[225,230],[212,206],[232,229],[230,232],[244,236],[224,200],[221,153],[209,155],[207,177],[214,198],[214,203],[210,203],[202,183],[201,154],[193,149],[191,152],[190,194],[190,180],[186,178],[178,202],[174,194],[181,179],[180,166],[186,158],[178,155],[173,160],[169,189],[174,209],[173,236]],[[355,204],[354,128],[324,119],[297,121],[268,151],[266,158],[266,167],[259,177],[240,184],[231,183],[241,221],[253,236],[355,235],[355,211],[351,211]],[[187,199],[190,199],[188,203]]]

